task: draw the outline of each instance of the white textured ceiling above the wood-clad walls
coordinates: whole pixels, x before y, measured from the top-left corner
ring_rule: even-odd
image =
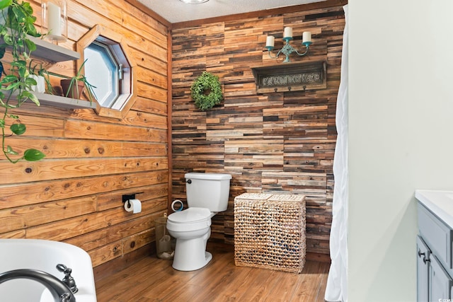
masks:
[[[320,2],[323,0],[210,0],[204,4],[185,4],[179,0],[138,0],[155,13],[169,21],[178,23],[219,16],[234,15]]]

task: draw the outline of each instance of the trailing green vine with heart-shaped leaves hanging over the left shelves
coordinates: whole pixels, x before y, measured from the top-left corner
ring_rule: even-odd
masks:
[[[6,144],[6,137],[21,135],[26,131],[25,124],[21,123],[17,115],[9,112],[19,108],[23,103],[31,100],[36,105],[40,102],[31,90],[36,85],[35,79],[31,78],[30,53],[36,50],[36,45],[28,38],[28,35],[39,37],[40,34],[35,28],[36,17],[33,16],[33,8],[28,2],[18,0],[0,0],[0,13],[4,17],[4,24],[0,23],[0,38],[4,41],[0,45],[0,107],[3,108],[3,115],[0,115],[1,146],[8,161],[17,163],[22,159],[26,161],[39,161],[45,155],[36,149],[27,149],[21,156],[11,146]],[[8,62],[8,69],[4,68],[4,54],[6,48],[11,50],[11,62]],[[12,134],[6,133],[6,124],[11,122],[9,129]],[[18,157],[18,158],[17,158]],[[17,159],[14,159],[17,158]]]

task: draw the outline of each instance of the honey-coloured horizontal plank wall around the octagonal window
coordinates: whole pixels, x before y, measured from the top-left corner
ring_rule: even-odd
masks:
[[[67,2],[69,40],[60,46],[74,50],[96,24],[115,30],[138,64],[138,99],[124,119],[47,105],[13,111],[28,129],[7,144],[46,157],[16,164],[0,157],[0,238],[71,243],[97,267],[137,249],[151,253],[154,219],[167,210],[168,27],[126,1]],[[40,1],[31,4],[39,26]],[[74,75],[75,65],[50,71]],[[123,208],[122,194],[133,193],[142,200],[139,214]]]

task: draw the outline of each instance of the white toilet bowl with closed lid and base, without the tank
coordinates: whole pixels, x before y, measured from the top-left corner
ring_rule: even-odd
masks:
[[[170,214],[167,230],[176,238],[173,268],[180,271],[193,271],[207,265],[212,255],[206,252],[206,243],[211,236],[209,209],[192,207]]]

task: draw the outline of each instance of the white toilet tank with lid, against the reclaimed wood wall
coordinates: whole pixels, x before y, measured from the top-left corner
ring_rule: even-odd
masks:
[[[212,212],[228,207],[231,175],[220,173],[185,173],[185,189],[189,207],[201,207]]]

